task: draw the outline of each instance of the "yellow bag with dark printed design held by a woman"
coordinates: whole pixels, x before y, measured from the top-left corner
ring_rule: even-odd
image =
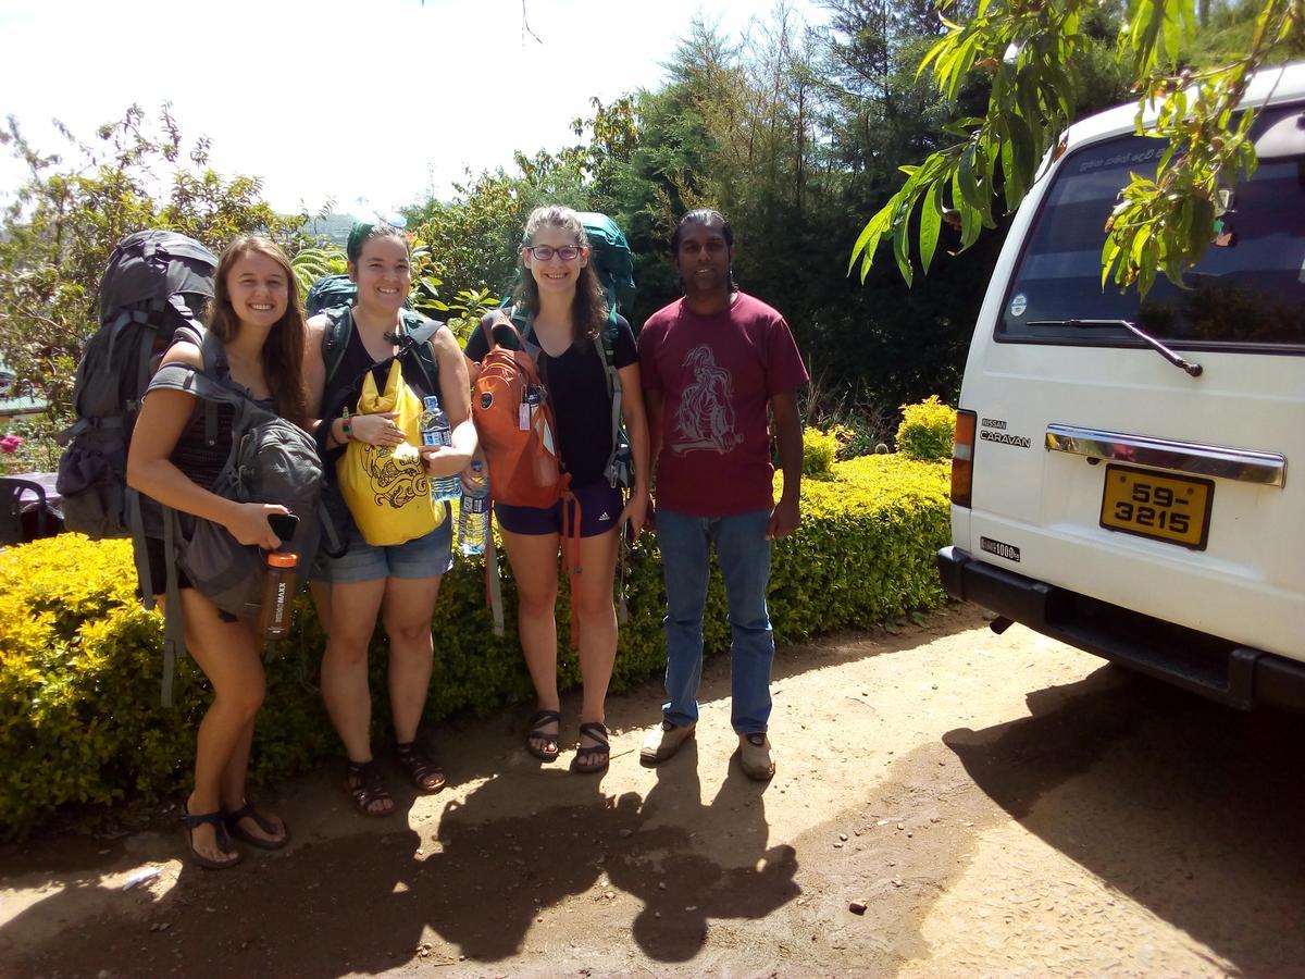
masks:
[[[397,411],[394,423],[407,437],[402,445],[351,441],[335,463],[335,478],[348,512],[373,547],[403,544],[425,536],[444,521],[444,506],[431,503],[431,480],[416,446],[422,444],[422,399],[403,382],[399,362],[390,365],[385,393],[367,372],[358,398],[359,415]]]

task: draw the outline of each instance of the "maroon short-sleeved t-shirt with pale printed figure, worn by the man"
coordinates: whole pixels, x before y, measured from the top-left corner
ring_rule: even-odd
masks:
[[[766,407],[808,380],[784,317],[744,292],[714,316],[676,300],[643,324],[639,369],[663,397],[658,504],[693,517],[774,506]]]

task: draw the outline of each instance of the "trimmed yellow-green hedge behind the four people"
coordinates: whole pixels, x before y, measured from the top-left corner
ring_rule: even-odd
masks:
[[[946,466],[897,456],[835,463],[827,482],[803,483],[803,523],[774,550],[770,611],[776,640],[792,642],[867,625],[944,600],[933,568],[947,539]],[[776,476],[778,492],[779,476]],[[433,623],[436,666],[429,719],[484,714],[530,701],[512,627],[493,636],[483,565],[458,559]],[[77,535],[0,552],[0,837],[29,831],[59,807],[102,811],[117,800],[179,792],[191,771],[207,694],[194,666],[179,666],[176,706],[159,706],[162,620],[133,595],[130,546]],[[664,668],[664,593],[655,540],[645,536],[626,570],[624,627],[612,691]],[[565,590],[560,633],[569,621]],[[339,751],[316,689],[322,632],[300,599],[298,629],[269,667],[253,778],[303,771]],[[728,646],[724,590],[713,576],[706,645]],[[377,723],[384,723],[385,640],[372,642]],[[576,651],[560,657],[564,687],[579,681]]]

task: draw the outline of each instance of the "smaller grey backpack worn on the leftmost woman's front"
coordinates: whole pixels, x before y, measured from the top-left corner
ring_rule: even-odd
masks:
[[[231,380],[222,342],[206,334],[201,350],[204,371],[179,363],[164,364],[149,390],[180,390],[198,398],[205,437],[218,431],[218,410],[232,411],[231,452],[209,487],[239,503],[275,503],[296,514],[299,527],[283,548],[299,556],[298,581],[303,585],[317,556],[318,497],[322,465],[313,437],[292,422],[253,401]],[[185,572],[200,594],[224,612],[256,617],[262,603],[264,559],[257,547],[241,544],[219,523],[162,506],[163,555],[167,564],[167,625],[163,634],[163,705],[171,706],[176,658],[184,653],[184,625],[177,593],[177,569]],[[144,534],[136,538],[137,564],[144,563]],[[144,583],[144,582],[142,582]],[[153,582],[157,591],[162,582]],[[174,614],[176,612],[176,614]]]

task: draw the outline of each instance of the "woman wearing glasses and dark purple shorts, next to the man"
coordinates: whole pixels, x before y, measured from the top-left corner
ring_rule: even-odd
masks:
[[[636,476],[626,501],[603,471],[613,448],[612,396],[596,347],[603,343],[608,308],[589,264],[589,239],[579,215],[570,208],[536,208],[526,221],[519,262],[515,300],[531,316],[540,373],[557,423],[557,445],[578,501],[578,506],[557,503],[548,509],[495,504],[517,582],[517,632],[538,706],[527,723],[526,751],[544,762],[559,756],[557,552],[561,534],[573,527],[578,516],[579,539],[573,543],[583,574],[572,578],[572,616],[579,633],[583,698],[572,768],[596,774],[607,769],[611,758],[606,704],[616,662],[612,583],[617,535],[624,531],[630,539],[638,536],[650,503],[638,352],[629,324],[617,317],[613,367],[621,380],[621,416]],[[466,351],[474,375],[479,375],[487,350],[484,333],[474,333]],[[491,474],[491,492],[492,479]]]

